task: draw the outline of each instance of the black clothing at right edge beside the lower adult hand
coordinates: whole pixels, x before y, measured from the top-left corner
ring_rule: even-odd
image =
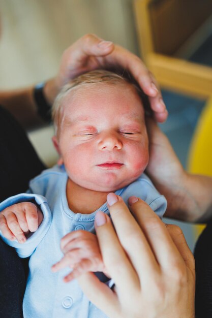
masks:
[[[212,317],[212,221],[200,235],[194,252],[196,263],[196,318]]]

